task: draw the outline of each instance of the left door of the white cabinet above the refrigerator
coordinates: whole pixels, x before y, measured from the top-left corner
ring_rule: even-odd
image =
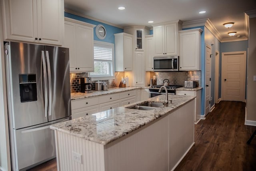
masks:
[[[35,42],[36,0],[4,0],[4,8],[5,39]]]

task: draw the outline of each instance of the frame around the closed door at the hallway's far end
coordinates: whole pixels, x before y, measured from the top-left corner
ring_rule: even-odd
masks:
[[[245,91],[246,91],[246,57],[247,57],[247,54],[246,54],[246,51],[236,51],[236,52],[222,52],[222,54],[221,54],[221,98],[223,99],[223,97],[224,97],[224,94],[223,94],[223,92],[224,92],[224,86],[223,86],[223,84],[224,84],[224,79],[223,79],[223,68],[224,68],[224,64],[223,64],[223,60],[224,60],[224,56],[225,55],[232,55],[232,54],[242,54],[243,56],[244,56],[244,58],[245,58],[245,61],[244,61],[244,74],[245,74],[245,77],[244,77],[244,102],[246,102],[246,100],[245,100]]]

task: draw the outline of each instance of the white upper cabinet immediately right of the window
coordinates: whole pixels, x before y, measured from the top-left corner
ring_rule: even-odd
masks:
[[[133,51],[133,36],[126,33],[115,36],[115,71],[131,71]]]

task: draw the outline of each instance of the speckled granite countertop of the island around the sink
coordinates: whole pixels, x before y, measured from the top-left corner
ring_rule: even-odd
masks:
[[[195,96],[189,95],[168,95],[168,106],[158,107],[150,111],[125,108],[144,102],[139,101],[124,107],[117,107],[70,121],[56,123],[51,125],[50,128],[106,145],[166,115],[194,98]],[[163,102],[164,99],[165,95],[159,95],[149,100]]]

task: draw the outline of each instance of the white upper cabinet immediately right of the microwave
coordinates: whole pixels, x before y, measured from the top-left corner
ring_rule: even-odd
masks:
[[[201,32],[200,28],[179,31],[180,71],[201,70]]]

